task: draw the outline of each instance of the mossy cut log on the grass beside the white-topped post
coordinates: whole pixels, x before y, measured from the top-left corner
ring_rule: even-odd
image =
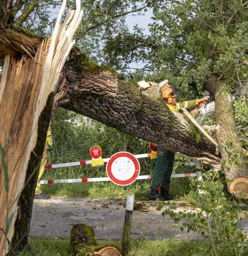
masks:
[[[97,245],[94,229],[83,223],[73,225],[70,247],[73,256],[123,256],[115,246]]]

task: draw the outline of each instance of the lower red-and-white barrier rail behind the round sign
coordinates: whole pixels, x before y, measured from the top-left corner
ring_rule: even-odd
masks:
[[[196,177],[196,173],[177,173],[172,174],[172,178],[181,177]],[[152,175],[139,175],[137,179],[152,179]],[[101,178],[71,178],[71,179],[54,179],[54,180],[40,180],[40,184],[55,184],[55,183],[82,183],[82,182],[108,182],[111,181],[109,177]]]

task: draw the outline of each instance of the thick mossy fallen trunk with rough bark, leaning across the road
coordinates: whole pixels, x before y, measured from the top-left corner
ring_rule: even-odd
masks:
[[[147,97],[133,85],[118,81],[105,69],[90,65],[82,55],[71,56],[64,70],[66,94],[58,106],[173,152],[192,157],[203,152],[214,154],[215,146],[180,113],[170,111],[163,100]]]

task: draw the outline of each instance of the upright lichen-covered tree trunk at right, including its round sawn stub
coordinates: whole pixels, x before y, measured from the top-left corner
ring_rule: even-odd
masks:
[[[216,140],[221,145],[221,158],[225,161],[225,177],[233,180],[229,183],[229,191],[237,193],[238,190],[242,190],[247,198],[248,166],[236,128],[232,96],[227,85],[215,77],[208,79],[206,89],[215,98]]]

